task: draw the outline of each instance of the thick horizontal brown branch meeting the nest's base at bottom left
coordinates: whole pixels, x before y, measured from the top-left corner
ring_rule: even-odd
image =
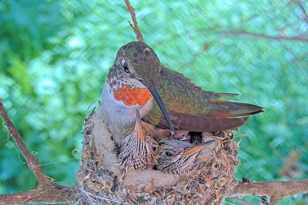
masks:
[[[0,195],[0,205],[32,204],[32,203],[74,203],[77,201],[76,187],[63,187],[49,184],[30,191],[21,191]]]

